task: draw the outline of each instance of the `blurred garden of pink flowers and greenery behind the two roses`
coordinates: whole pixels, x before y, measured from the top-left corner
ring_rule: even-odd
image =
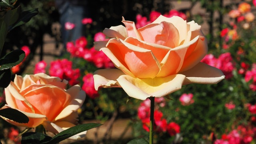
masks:
[[[43,72],[68,80],[70,87],[76,84],[82,87],[87,96],[78,110],[79,122],[93,121],[104,124],[105,129],[100,126],[88,130],[86,138],[77,142],[119,144],[133,138],[147,138],[148,99],[129,98],[121,88],[94,89],[92,73],[114,65],[104,53],[94,50],[93,42],[107,40],[102,31],[120,25],[122,16],[136,22],[136,27],[140,28],[162,14],[180,16],[201,25],[209,53],[202,62],[219,68],[226,78],[216,85],[183,86],[170,94],[171,100],[156,98],[155,143],[256,143],[255,0],[99,0],[99,3],[91,4],[94,13],[89,20],[84,20],[84,37],[68,42],[66,52],[62,52],[54,1],[21,2],[24,9],[38,7],[39,13],[8,33],[2,51],[3,56],[12,49],[26,53],[25,60],[12,68],[13,75]],[[66,30],[72,30],[72,26]],[[46,35],[53,41],[45,41]],[[45,52],[48,42],[54,45],[52,53]],[[1,102],[4,102],[3,89],[1,94]],[[122,131],[114,127],[117,123],[121,123]],[[20,142],[20,138],[16,138],[22,130],[20,127],[0,119],[0,129],[2,143]]]

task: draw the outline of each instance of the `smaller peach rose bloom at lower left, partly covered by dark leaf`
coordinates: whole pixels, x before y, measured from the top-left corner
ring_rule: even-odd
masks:
[[[4,120],[16,126],[34,128],[40,124],[53,133],[59,133],[75,126],[78,122],[77,110],[82,106],[86,94],[80,86],[75,85],[65,90],[68,81],[46,74],[15,76],[14,82],[5,89],[6,103],[4,108],[20,110],[29,118],[29,122],[17,123]],[[86,132],[70,137],[77,139]]]

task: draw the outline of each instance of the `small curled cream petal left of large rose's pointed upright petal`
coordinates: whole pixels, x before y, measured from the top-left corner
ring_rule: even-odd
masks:
[[[116,39],[122,39],[124,40],[125,38],[128,37],[127,30],[124,26],[119,25],[119,26],[111,26],[109,29],[105,28],[103,30],[103,33],[106,34],[106,36],[110,38],[116,38]]]

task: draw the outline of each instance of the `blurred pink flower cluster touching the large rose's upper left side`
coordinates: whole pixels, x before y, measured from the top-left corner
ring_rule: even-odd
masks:
[[[102,33],[96,33],[94,36],[95,41],[108,40]],[[76,42],[67,43],[67,51],[74,57],[84,58],[88,62],[95,64],[97,68],[114,68],[114,64],[111,60],[101,51],[94,50],[94,47],[87,48],[87,40],[84,36],[76,40]]]

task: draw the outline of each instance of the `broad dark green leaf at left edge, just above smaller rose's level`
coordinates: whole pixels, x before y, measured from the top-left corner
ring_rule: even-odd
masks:
[[[23,50],[13,50],[12,52],[6,54],[2,59],[0,60],[0,70],[12,68],[16,66],[17,64],[20,64],[22,60],[25,58],[25,52]]]

